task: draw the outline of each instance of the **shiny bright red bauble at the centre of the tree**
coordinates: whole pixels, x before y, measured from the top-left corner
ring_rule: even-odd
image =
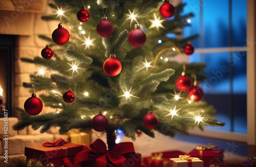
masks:
[[[116,76],[121,72],[122,64],[116,58],[109,58],[104,62],[103,70],[109,76]]]

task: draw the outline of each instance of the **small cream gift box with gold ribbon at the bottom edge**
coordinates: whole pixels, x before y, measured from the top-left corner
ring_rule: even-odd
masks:
[[[170,158],[169,167],[203,167],[203,161],[196,157],[191,157],[187,160]]]

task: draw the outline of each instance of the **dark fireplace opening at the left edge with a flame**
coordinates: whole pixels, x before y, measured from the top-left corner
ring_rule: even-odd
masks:
[[[14,46],[15,36],[0,35],[0,117],[14,114]]]

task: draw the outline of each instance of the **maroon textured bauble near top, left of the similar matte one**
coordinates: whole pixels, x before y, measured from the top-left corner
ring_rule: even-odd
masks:
[[[113,33],[113,25],[106,19],[101,20],[97,26],[96,31],[101,37],[109,37]]]

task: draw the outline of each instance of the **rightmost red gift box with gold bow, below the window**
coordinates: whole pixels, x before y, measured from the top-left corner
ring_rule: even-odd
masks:
[[[217,165],[223,163],[223,149],[218,149],[215,146],[198,146],[196,149],[188,153],[192,157],[198,157],[204,161],[204,167],[209,167],[209,165]]]

